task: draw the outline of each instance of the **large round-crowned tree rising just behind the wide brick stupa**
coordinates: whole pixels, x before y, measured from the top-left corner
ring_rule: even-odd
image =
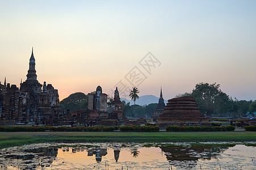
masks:
[[[220,84],[199,83],[192,90],[200,112],[212,117],[212,114],[229,112],[229,96],[220,90]]]

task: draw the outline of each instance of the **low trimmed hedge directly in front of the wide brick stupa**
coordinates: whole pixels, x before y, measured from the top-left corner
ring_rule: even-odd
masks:
[[[234,126],[167,126],[166,131],[233,131]]]

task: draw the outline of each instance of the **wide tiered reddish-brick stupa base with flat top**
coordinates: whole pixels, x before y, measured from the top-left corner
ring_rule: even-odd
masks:
[[[169,99],[165,111],[157,118],[157,125],[165,126],[211,126],[209,118],[199,111],[194,97]]]

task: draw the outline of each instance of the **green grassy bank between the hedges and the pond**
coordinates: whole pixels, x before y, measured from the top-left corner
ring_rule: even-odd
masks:
[[[43,142],[244,142],[256,141],[254,131],[211,132],[0,132],[0,148]]]

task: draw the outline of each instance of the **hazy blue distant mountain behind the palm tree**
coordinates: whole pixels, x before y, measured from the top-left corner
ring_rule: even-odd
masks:
[[[145,95],[145,96],[140,96],[139,99],[136,100],[136,104],[138,105],[149,105],[150,103],[158,103],[158,99],[159,97],[156,97],[154,95]],[[124,99],[124,98],[120,98],[121,101],[125,101],[126,103],[130,102],[131,104],[130,105],[133,105],[134,104],[134,101],[132,100],[127,100],[127,99]],[[165,100],[165,104],[167,103],[167,100]]]

